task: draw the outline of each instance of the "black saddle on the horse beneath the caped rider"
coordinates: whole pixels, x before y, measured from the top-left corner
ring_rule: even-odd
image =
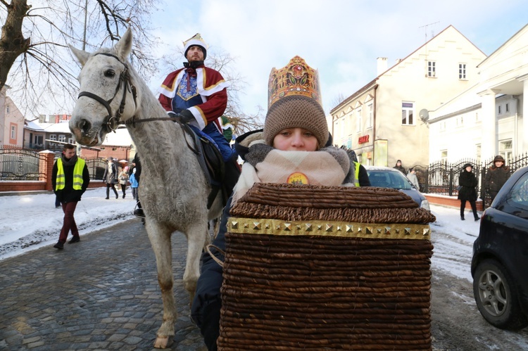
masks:
[[[203,174],[206,176],[211,191],[207,197],[207,208],[209,209],[218,196],[218,192],[222,192],[222,205],[225,206],[227,199],[230,196],[225,187],[225,162],[218,147],[210,141],[205,134],[198,129],[187,125],[187,123],[180,123],[184,134],[191,136],[192,144],[187,142],[187,146],[194,152],[198,160]],[[187,140],[187,139],[186,139]]]

